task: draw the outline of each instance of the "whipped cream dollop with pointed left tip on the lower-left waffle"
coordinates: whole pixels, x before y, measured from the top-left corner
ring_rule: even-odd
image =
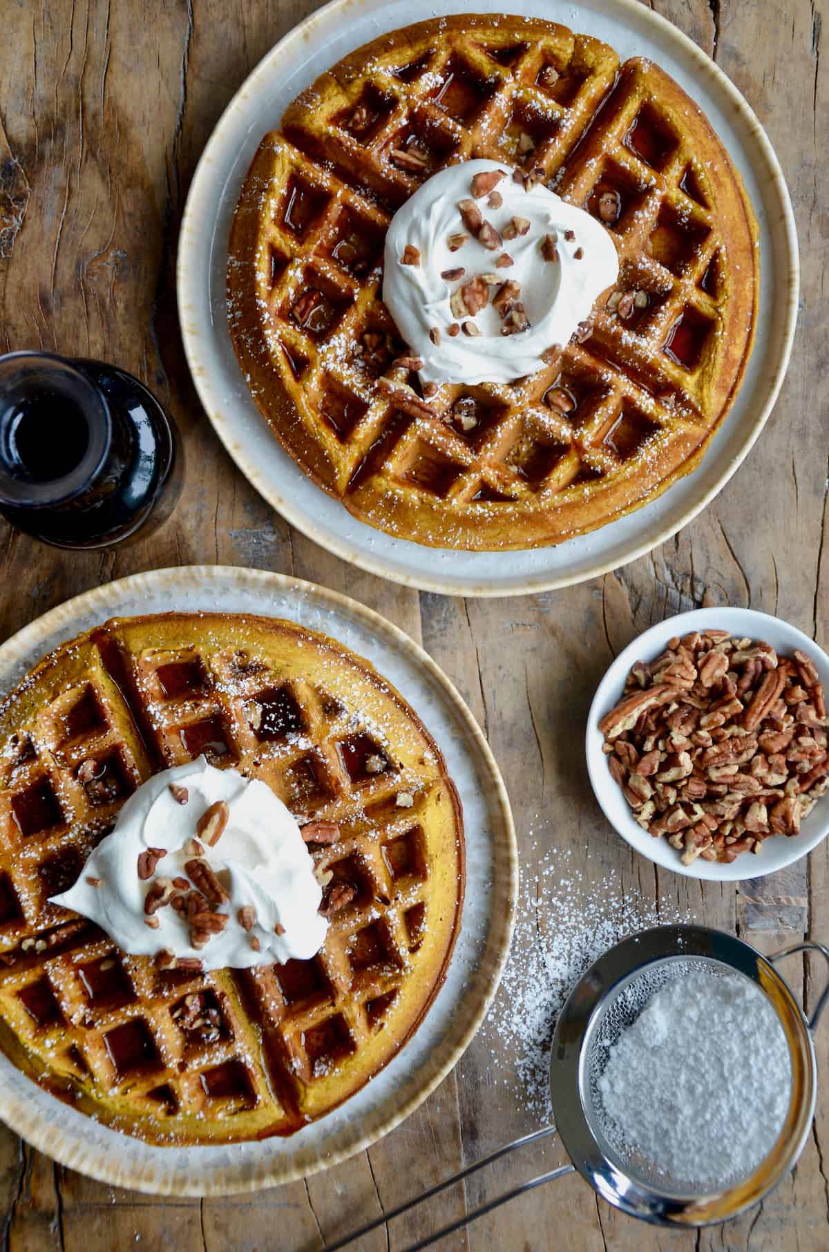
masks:
[[[187,801],[180,803],[184,791]],[[197,825],[218,801],[227,804],[227,824],[210,846],[197,835]],[[195,838],[200,850],[190,843]],[[150,849],[167,855],[158,861],[154,851],[144,856],[142,869],[152,873],[142,878],[139,858]],[[224,929],[198,948],[187,915],[170,903],[145,911],[148,893],[187,894],[199,886],[194,856],[207,863],[227,896],[209,905],[227,915]],[[180,880],[179,888],[172,885],[174,879]],[[322,888],[313,860],[282,800],[258,779],[250,781],[233,769],[217,770],[203,756],[144,782],[126,800],[114,830],[95,848],[75,885],[53,899],[95,921],[126,953],[157,957],[165,952],[198,959],[204,969],[307,960],[319,952],[328,929],[317,911]]]

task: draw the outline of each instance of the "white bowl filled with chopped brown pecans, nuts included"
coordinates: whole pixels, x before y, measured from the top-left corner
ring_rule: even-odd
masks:
[[[790,865],[829,831],[829,656],[749,608],[652,626],[614,661],[587,719],[605,816],[650,860],[738,881]]]

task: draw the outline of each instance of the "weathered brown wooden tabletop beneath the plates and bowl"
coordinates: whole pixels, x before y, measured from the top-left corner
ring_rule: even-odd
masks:
[[[178,332],[177,233],[199,153],[224,105],[313,0],[0,0],[0,351],[44,347],[101,357],[140,376],[185,433],[189,467],[174,517],[149,541],[71,555],[0,528],[0,637],[80,591],[138,570],[189,562],[258,566],[344,591],[421,640],[470,702],[511,794],[525,870],[570,849],[586,876],[612,875],[651,901],[670,895],[700,921],[764,950],[829,940],[829,841],[781,874],[741,886],[656,871],[607,829],[581,755],[590,695],[651,622],[708,605],[761,608],[826,646],[826,309],[829,74],[823,0],[652,0],[731,76],[768,129],[800,237],[801,310],[781,398],[720,497],[650,556],[601,580],[517,600],[418,595],[361,573],[294,533],[237,472],[198,403]],[[458,8],[461,5],[458,4]],[[472,4],[473,8],[473,4]],[[542,6],[543,10],[543,6]],[[824,63],[824,66],[829,60]],[[824,200],[824,197],[826,200]],[[780,295],[783,299],[783,293]],[[543,820],[540,826],[540,816]],[[543,830],[533,846],[528,829]],[[592,855],[586,856],[590,845]],[[791,963],[808,1003],[821,972]],[[361,1216],[393,1207],[513,1134],[535,1128],[505,1099],[497,1033],[472,1044],[422,1108],[369,1152],[307,1182],[229,1199],[155,1201],[55,1166],[0,1127],[4,1248],[15,1252],[264,1252],[321,1248]],[[741,1221],[699,1233],[621,1217],[577,1178],[538,1188],[445,1249],[671,1252],[829,1247],[829,1030],[818,1116],[794,1174]],[[693,1047],[687,1063],[694,1063]],[[516,1079],[512,1079],[516,1082]],[[433,1202],[448,1221],[485,1191],[559,1159],[528,1149]],[[425,1219],[425,1218],[423,1218]],[[421,1221],[391,1223],[363,1247],[401,1248]]]

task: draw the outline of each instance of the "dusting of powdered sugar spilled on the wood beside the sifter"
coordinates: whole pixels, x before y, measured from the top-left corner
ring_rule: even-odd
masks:
[[[587,854],[590,859],[590,854]],[[512,949],[488,1024],[515,1058],[521,1101],[538,1121],[552,1118],[550,1048],[561,1008],[586,969],[627,935],[693,921],[676,901],[645,898],[617,873],[591,879],[569,849],[548,849],[535,866],[525,856]],[[495,1058],[495,1080],[512,1077]]]

